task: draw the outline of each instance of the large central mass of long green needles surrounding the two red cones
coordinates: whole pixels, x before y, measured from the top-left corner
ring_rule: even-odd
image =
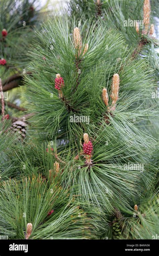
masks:
[[[81,33],[86,33],[87,37],[83,36],[82,40],[89,44],[89,49],[79,60],[75,58],[67,21],[64,24],[48,21],[43,32],[38,33],[39,40],[31,50],[33,61],[30,64],[30,69],[36,68],[36,72],[32,77],[26,76],[28,108],[30,113],[36,113],[31,122],[40,133],[40,140],[54,141],[59,156],[65,159],[67,164],[62,177],[66,187],[75,185],[71,194],[109,212],[114,204],[121,204],[122,197],[126,209],[132,194],[138,193],[139,180],[147,188],[152,185],[155,169],[149,171],[149,161],[156,142],[140,126],[156,116],[156,110],[152,114],[156,101],[151,98],[155,83],[146,62],[128,58],[126,45],[118,33],[103,31],[102,26],[96,29],[96,25],[87,28],[86,24]],[[76,61],[81,71],[79,78]],[[64,100],[54,88],[56,73],[64,79]],[[109,116],[108,125],[104,121],[103,113],[107,109],[101,94],[103,87],[110,93],[114,73],[120,76],[120,92],[116,111],[113,117]],[[72,115],[88,116],[90,122],[71,123]],[[91,167],[86,166],[83,154],[77,161],[73,160],[76,154],[82,153],[84,132],[93,141]],[[140,170],[125,170],[127,162],[142,163],[144,175]]]

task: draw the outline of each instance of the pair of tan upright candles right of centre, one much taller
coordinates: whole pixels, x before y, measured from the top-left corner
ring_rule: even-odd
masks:
[[[108,106],[108,93],[107,89],[103,88],[102,90],[102,98],[104,101],[104,104],[107,106],[108,112],[114,111],[116,108],[116,102],[118,100],[118,94],[119,94],[119,83],[120,78],[118,74],[114,74],[112,78],[112,84],[111,84],[111,94],[110,97],[112,99],[111,106]]]

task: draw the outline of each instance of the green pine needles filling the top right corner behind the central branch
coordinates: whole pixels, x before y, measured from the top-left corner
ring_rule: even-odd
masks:
[[[116,29],[119,33],[122,34],[126,43],[129,47],[137,49],[139,42],[142,39],[146,39],[147,43],[143,45],[139,58],[147,58],[149,64],[155,68],[156,76],[158,74],[158,53],[154,51],[158,47],[158,40],[155,37],[150,37],[149,35],[143,35],[142,31],[144,27],[140,28],[139,34],[136,32],[136,22],[133,25],[128,24],[126,26],[125,21],[143,21],[143,4],[144,0],[100,0],[98,5],[95,0],[71,0],[69,1],[69,13],[70,20],[74,14],[78,21],[83,17],[84,21],[92,18],[92,21],[100,21],[103,25],[103,28],[106,29]],[[157,16],[157,7],[158,2],[153,0],[151,1],[151,24],[155,24],[154,19]],[[98,26],[98,24],[97,24]]]

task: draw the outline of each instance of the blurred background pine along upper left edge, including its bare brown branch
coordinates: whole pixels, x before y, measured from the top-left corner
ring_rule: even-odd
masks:
[[[23,74],[31,74],[27,53],[44,14],[29,0],[2,0],[0,9],[0,78],[6,94],[5,114],[13,118],[25,111],[19,86],[23,86]]]

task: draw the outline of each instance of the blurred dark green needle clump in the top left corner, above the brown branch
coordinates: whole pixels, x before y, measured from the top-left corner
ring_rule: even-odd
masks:
[[[37,23],[39,13],[33,4],[28,0],[19,3],[3,0],[0,3],[0,31],[6,29],[8,33],[5,38],[1,35],[0,57],[6,59],[10,74],[16,72],[16,69],[20,71],[28,64],[26,55],[35,33],[33,25],[37,28],[39,26]]]

